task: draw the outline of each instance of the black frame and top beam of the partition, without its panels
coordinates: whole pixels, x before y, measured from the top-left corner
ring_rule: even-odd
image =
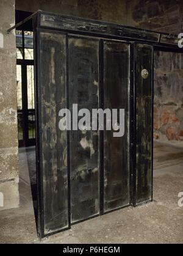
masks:
[[[46,20],[46,17],[48,18]],[[44,219],[43,219],[43,174],[40,167],[40,139],[41,134],[40,130],[38,129],[40,123],[39,119],[39,108],[40,102],[38,98],[40,97],[39,87],[40,81],[38,73],[40,70],[40,32],[55,32],[60,34],[66,35],[66,56],[68,56],[68,35],[78,35],[81,37],[90,37],[90,38],[98,38],[99,40],[99,59],[101,60],[101,65],[103,65],[103,59],[101,54],[103,40],[118,40],[121,42],[127,42],[130,44],[130,65],[131,65],[131,82],[130,82],[130,205],[136,207],[136,116],[137,116],[137,108],[136,108],[136,84],[137,84],[137,70],[136,70],[136,48],[137,44],[144,44],[144,45],[151,45],[152,46],[152,54],[154,51],[171,51],[174,53],[183,53],[183,49],[178,48],[178,36],[173,34],[167,34],[163,32],[157,31],[150,31],[148,29],[139,29],[136,27],[130,26],[122,26],[115,23],[106,23],[102,21],[95,21],[95,20],[88,20],[84,18],[77,18],[72,16],[66,15],[59,15],[56,13],[50,12],[43,12],[38,10],[38,12],[30,15],[26,20],[21,21],[20,23],[16,24],[15,26],[11,27],[8,32],[12,31],[15,27],[19,27],[22,24],[26,23],[32,19],[33,21],[33,28],[34,28],[34,53],[35,53],[35,102],[36,102],[36,123],[37,123],[37,131],[36,131],[36,155],[37,155],[37,200],[38,200],[38,219],[37,219],[37,229],[38,235],[43,238],[48,236],[45,235],[44,232]],[[154,98],[154,84],[153,84],[153,71],[154,68],[154,57],[152,55],[152,84],[151,84],[151,110],[152,110],[152,140],[151,140],[151,150],[152,150],[152,159],[151,159],[151,171],[153,177],[153,98]],[[66,70],[68,72],[68,59],[66,59]],[[102,72],[100,73],[100,79],[102,81]],[[103,95],[103,84],[100,81],[100,95]],[[66,98],[68,101],[68,74],[66,75]],[[100,98],[99,106],[102,108],[104,99]],[[67,103],[68,104],[68,103]],[[68,106],[67,106],[68,108]],[[100,131],[100,155],[102,159],[103,154],[103,137],[104,134]],[[69,138],[69,132],[67,132],[67,138]],[[68,143],[68,170],[70,170],[70,148]],[[101,162],[101,168],[103,168],[103,163]],[[102,178],[100,179],[100,185],[102,185]],[[153,178],[152,178],[153,181]],[[153,188],[153,184],[152,184]],[[152,189],[153,190],[153,189]],[[153,200],[153,199],[152,199]],[[151,201],[152,201],[151,200]],[[101,200],[100,200],[101,201]],[[122,207],[124,208],[124,207]],[[118,209],[117,209],[118,210]],[[116,211],[116,210],[112,210]],[[111,212],[111,211],[109,211]],[[107,212],[107,213],[109,213]],[[107,214],[102,212],[102,205],[100,202],[100,214]],[[68,228],[62,229],[68,230],[71,228],[71,209],[70,209],[70,171],[68,171]],[[96,217],[96,216],[95,216]],[[93,217],[91,217],[93,218]],[[88,218],[88,219],[91,219]],[[86,220],[86,219],[85,219]],[[83,221],[83,220],[82,220]],[[79,222],[82,222],[79,221]],[[77,222],[78,223],[78,222]],[[54,233],[58,233],[60,231],[49,233],[49,235],[53,235]]]

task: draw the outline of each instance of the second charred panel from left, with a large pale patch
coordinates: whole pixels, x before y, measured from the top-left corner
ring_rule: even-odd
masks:
[[[70,109],[99,108],[99,42],[69,38]],[[81,117],[80,117],[81,118]],[[99,133],[70,132],[71,222],[99,213]]]

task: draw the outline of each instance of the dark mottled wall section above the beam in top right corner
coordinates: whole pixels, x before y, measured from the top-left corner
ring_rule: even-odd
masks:
[[[182,0],[127,0],[127,23],[163,32],[180,33]]]

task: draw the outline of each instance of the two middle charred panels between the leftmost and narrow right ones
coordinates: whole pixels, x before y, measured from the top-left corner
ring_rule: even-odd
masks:
[[[113,137],[113,129],[101,137],[99,131],[70,132],[71,223],[129,205],[129,67],[128,43],[68,39],[70,109],[125,111],[121,137]]]

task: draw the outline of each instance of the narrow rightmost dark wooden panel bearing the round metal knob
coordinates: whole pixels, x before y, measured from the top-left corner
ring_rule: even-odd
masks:
[[[152,46],[137,45],[136,203],[152,200]],[[149,72],[142,77],[142,70]]]

